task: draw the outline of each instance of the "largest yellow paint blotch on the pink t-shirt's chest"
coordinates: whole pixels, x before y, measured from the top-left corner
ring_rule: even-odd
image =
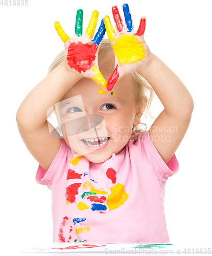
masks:
[[[110,188],[111,194],[107,198],[107,206],[110,210],[116,209],[128,199],[128,195],[124,189],[124,185],[117,183]]]

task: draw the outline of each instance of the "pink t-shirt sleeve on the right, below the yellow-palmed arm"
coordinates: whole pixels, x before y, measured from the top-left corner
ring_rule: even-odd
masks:
[[[178,172],[179,163],[176,155],[174,154],[170,161],[166,164],[151,141],[149,131],[146,131],[140,135],[136,143],[141,146],[140,153],[142,154],[145,164],[159,178],[167,180],[169,177]]]

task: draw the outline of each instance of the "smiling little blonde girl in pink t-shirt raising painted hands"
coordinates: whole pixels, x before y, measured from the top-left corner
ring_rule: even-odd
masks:
[[[123,10],[126,29],[114,6],[117,33],[106,16],[93,39],[97,11],[85,35],[82,10],[72,38],[56,22],[65,51],[17,111],[20,135],[39,162],[36,181],[52,191],[54,242],[170,242],[164,188],[179,169],[174,153],[193,99],[148,48],[146,18],[134,32],[127,4]],[[105,27],[110,41],[102,40]],[[139,132],[154,92],[164,110]],[[47,121],[53,111],[56,130]]]

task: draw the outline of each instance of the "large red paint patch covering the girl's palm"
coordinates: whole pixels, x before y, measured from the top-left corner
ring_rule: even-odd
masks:
[[[70,68],[85,72],[95,66],[98,46],[94,42],[72,42],[68,47],[67,61]]]

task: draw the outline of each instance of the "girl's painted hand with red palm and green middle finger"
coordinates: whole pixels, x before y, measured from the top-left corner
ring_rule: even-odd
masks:
[[[99,12],[93,11],[85,35],[82,35],[83,10],[77,11],[75,35],[72,38],[63,31],[59,22],[55,22],[58,35],[64,42],[64,65],[68,71],[81,74],[94,80],[103,91],[107,91],[107,82],[98,68],[98,52],[105,34],[104,20],[93,39]]]

